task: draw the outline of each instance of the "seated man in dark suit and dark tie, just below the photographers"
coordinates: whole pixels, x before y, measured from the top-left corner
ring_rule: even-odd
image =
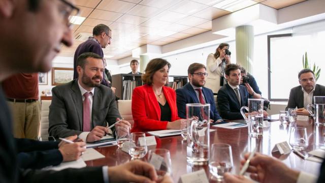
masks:
[[[217,100],[220,115],[224,119],[242,119],[240,108],[248,105],[249,96],[246,87],[240,85],[240,66],[236,64],[227,65],[224,73],[228,83],[218,91]],[[245,115],[247,116],[248,113]]]

